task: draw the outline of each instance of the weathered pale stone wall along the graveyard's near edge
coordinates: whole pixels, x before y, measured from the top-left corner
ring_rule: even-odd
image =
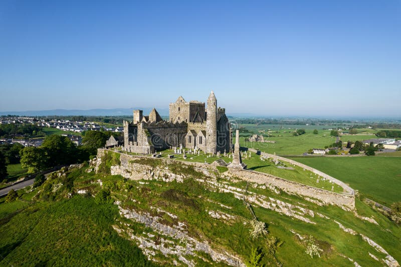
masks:
[[[97,154],[97,164],[100,164],[101,158],[105,151],[110,151],[120,154],[120,166],[111,166],[111,174],[120,174],[125,178],[129,179],[150,179],[154,175],[159,177],[166,177],[166,181],[172,179],[182,179],[183,177],[178,174],[169,173],[168,170],[160,169],[155,170],[150,166],[145,166],[139,163],[132,162],[135,158],[146,158],[152,159],[147,156],[128,155],[123,152],[114,151],[112,149],[99,148]],[[194,166],[196,170],[201,171],[205,174],[211,175],[213,171],[217,170],[216,166],[212,164],[205,164],[201,162],[188,162],[188,161],[177,161],[173,159],[159,158],[160,160],[167,163],[180,163],[185,165]],[[284,159],[283,159],[284,160]],[[285,159],[288,161],[287,159]],[[273,176],[263,172],[257,172],[252,170],[241,170],[241,169],[229,169],[229,172],[225,172],[227,176],[234,176],[245,181],[256,182],[259,184],[270,184],[275,187],[282,189],[283,191],[290,194],[297,194],[313,198],[323,202],[324,204],[332,204],[338,206],[345,206],[346,209],[355,208],[355,198],[353,194],[340,194],[327,191],[324,189],[316,188],[309,185],[286,180],[277,176]],[[308,200],[308,199],[307,199]],[[310,199],[309,199],[310,200]],[[313,200],[310,200],[314,202]]]

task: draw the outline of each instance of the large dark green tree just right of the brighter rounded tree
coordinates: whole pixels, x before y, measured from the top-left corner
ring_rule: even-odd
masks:
[[[76,162],[77,147],[67,136],[46,136],[41,148],[48,155],[48,167]]]

